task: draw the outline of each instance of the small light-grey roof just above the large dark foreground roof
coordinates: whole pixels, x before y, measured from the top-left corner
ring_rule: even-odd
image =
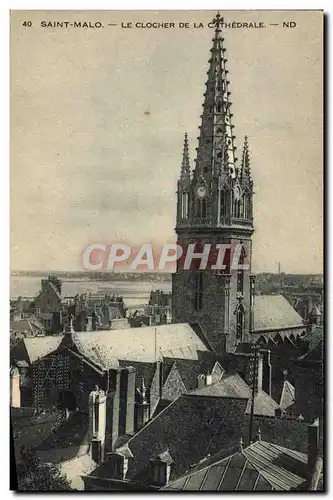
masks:
[[[207,385],[201,389],[191,392],[191,395],[211,396],[219,398],[245,398],[248,400],[246,413],[251,411],[252,390],[247,383],[238,375],[225,374],[215,384]],[[254,398],[254,414],[275,416],[275,410],[279,405],[265,391],[258,391]]]

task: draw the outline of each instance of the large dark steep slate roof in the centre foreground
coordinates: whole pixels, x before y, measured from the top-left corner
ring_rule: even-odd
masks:
[[[149,463],[169,451],[171,479],[222,447],[239,441],[247,400],[182,395],[127,441],[134,459],[127,479],[145,481]],[[101,470],[100,477],[108,472]]]

